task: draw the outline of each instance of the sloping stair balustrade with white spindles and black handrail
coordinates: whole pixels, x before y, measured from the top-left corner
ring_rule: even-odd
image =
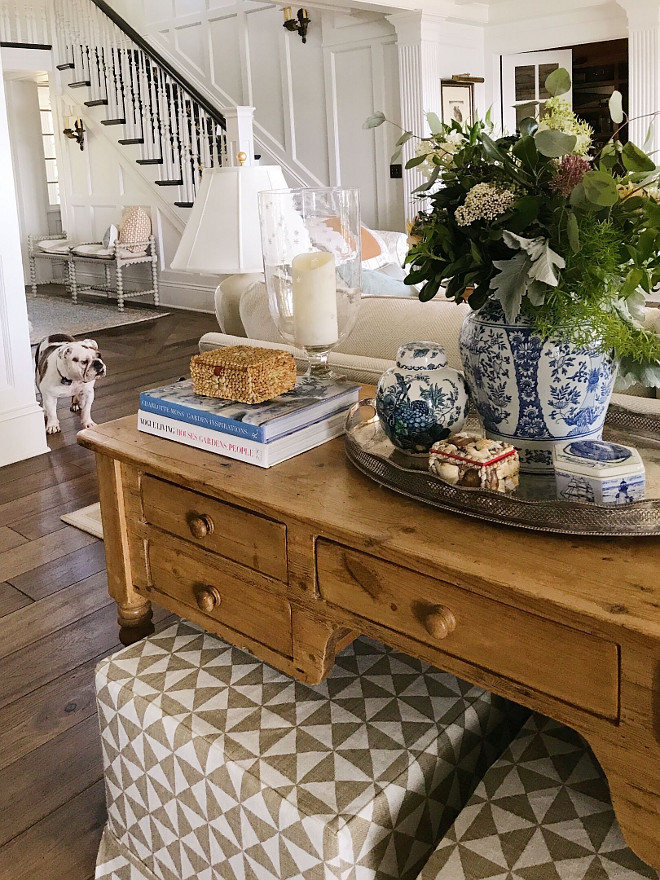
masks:
[[[137,147],[137,164],[154,166],[157,186],[175,188],[175,205],[191,207],[203,169],[234,159],[224,116],[103,0],[57,0],[52,10],[69,88],[102,108],[101,124]]]

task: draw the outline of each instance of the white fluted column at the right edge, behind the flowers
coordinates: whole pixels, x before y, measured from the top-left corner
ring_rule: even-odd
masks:
[[[617,0],[628,14],[629,137],[644,144],[653,122],[649,151],[660,150],[660,0]],[[639,118],[641,117],[641,118]],[[655,154],[656,162],[660,153]]]

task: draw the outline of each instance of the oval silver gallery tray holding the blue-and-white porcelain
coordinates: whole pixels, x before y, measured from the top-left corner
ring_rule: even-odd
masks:
[[[483,433],[475,415],[464,430]],[[660,535],[660,418],[610,406],[603,438],[639,450],[646,468],[644,501],[623,506],[559,501],[553,475],[521,474],[511,495],[453,486],[429,472],[427,455],[408,455],[390,442],[373,398],[349,411],[345,445],[349,461],[377,483],[443,510],[539,532]]]

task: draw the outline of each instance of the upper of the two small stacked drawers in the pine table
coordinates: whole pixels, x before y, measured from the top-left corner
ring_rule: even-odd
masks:
[[[152,525],[262,574],[287,580],[284,523],[155,477],[142,478],[141,494],[145,519]]]

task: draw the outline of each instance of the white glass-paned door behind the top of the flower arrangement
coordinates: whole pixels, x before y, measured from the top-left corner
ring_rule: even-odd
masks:
[[[545,91],[545,80],[558,67],[572,72],[571,49],[502,56],[502,131],[505,134],[513,134],[525,116],[536,115],[539,106],[550,97]],[[572,92],[561,97],[572,106]]]

